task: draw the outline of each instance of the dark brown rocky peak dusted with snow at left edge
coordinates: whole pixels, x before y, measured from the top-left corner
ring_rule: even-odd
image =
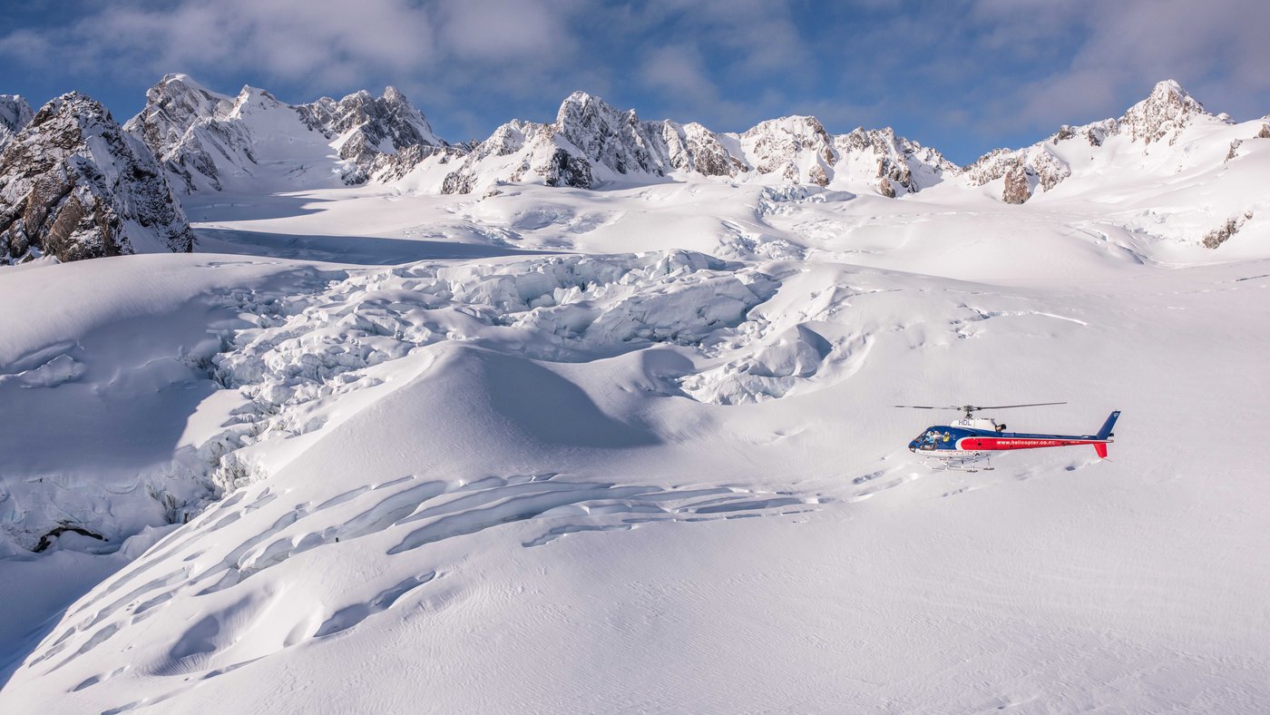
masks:
[[[0,152],[0,263],[193,248],[163,168],[89,97],[53,99]]]

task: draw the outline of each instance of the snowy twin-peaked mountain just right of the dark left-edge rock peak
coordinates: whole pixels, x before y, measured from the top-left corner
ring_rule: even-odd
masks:
[[[146,108],[124,124],[145,140],[182,190],[222,190],[236,179],[271,174],[300,185],[386,182],[420,161],[465,152],[433,133],[394,88],[334,100],[287,104],[244,86],[215,93],[185,75],[166,75],[146,91]]]

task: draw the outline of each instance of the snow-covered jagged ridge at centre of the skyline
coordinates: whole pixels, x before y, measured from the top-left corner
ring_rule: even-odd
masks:
[[[446,177],[442,192],[471,193],[508,182],[592,187],[696,174],[820,187],[845,182],[897,196],[956,171],[937,151],[890,130],[834,136],[814,117],[784,117],[740,135],[715,133],[696,123],[645,122],[634,110],[578,91],[564,100],[551,124],[516,121],[495,130]]]

